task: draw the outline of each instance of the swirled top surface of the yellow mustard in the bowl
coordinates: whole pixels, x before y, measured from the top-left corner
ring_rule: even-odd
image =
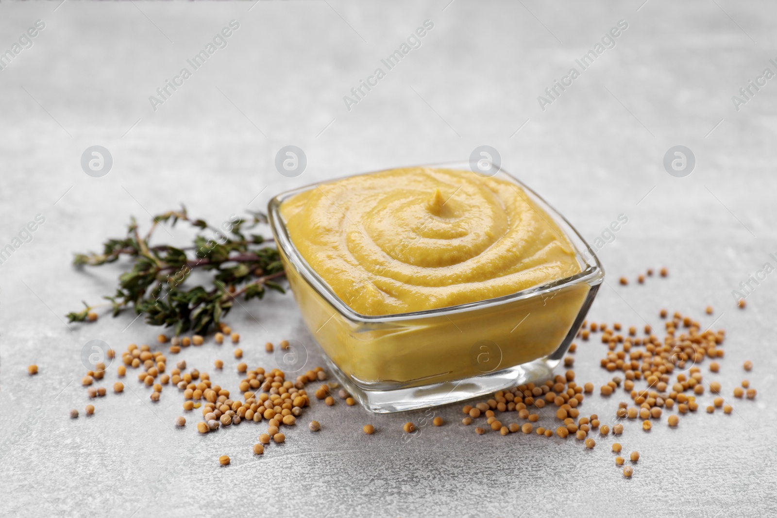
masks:
[[[303,259],[361,315],[483,301],[580,272],[569,239],[520,186],[469,171],[351,176],[280,213]]]

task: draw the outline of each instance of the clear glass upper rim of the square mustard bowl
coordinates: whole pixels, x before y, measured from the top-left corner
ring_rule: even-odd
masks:
[[[297,195],[299,193],[304,193],[305,191],[315,189],[318,186],[326,185],[328,183],[339,182],[342,179],[347,179],[352,176],[371,175],[378,172],[390,171],[392,169],[401,169],[405,167],[428,167],[428,168],[435,168],[435,169],[456,169],[456,170],[471,171],[471,169],[469,169],[469,162],[440,162],[440,163],[434,163],[434,164],[421,164],[421,165],[416,164],[416,165],[397,166],[392,168],[378,169],[378,170],[369,171],[369,172],[357,172],[352,175],[340,176],[334,179],[327,179],[327,180],[323,180],[322,182],[311,183],[306,186],[298,187],[296,189],[290,189],[290,190],[284,191],[274,196],[270,200],[270,202],[267,203],[267,215],[270,220],[270,228],[272,229],[274,237],[276,239],[276,246],[278,247],[280,252],[283,252],[286,255],[287,259],[290,262],[292,262],[294,267],[298,269],[301,277],[305,280],[305,282],[308,283],[308,285],[312,287],[313,290],[316,291],[316,293],[318,293],[321,297],[323,297],[324,300],[329,302],[329,304],[332,305],[333,308],[336,309],[336,311],[338,311],[340,315],[342,315],[343,317],[348,318],[349,320],[354,322],[362,322],[362,323],[399,322],[403,320],[411,320],[411,319],[417,319],[417,318],[433,318],[438,316],[458,314],[465,311],[474,311],[481,308],[490,308],[501,304],[509,304],[510,302],[520,301],[531,297],[541,297],[542,295],[561,290],[564,287],[570,286],[572,284],[577,284],[577,283],[587,283],[589,286],[596,286],[600,284],[602,280],[604,280],[605,278],[604,267],[601,265],[601,262],[599,261],[599,258],[594,252],[594,250],[591,249],[591,245],[588,245],[588,242],[583,238],[582,235],[580,235],[580,232],[577,231],[577,228],[574,228],[573,225],[566,220],[566,217],[564,217],[563,214],[559,213],[558,210],[556,210],[548,202],[546,202],[545,199],[542,198],[542,196],[539,196],[537,193],[535,193],[533,189],[531,189],[526,184],[521,182],[521,180],[512,176],[509,172],[505,171],[502,167],[499,167],[497,173],[491,176],[496,176],[497,174],[507,176],[507,179],[509,179],[511,182],[517,184],[517,186],[520,186],[522,189],[524,189],[524,191],[526,191],[533,198],[533,201],[538,202],[542,210],[545,210],[545,212],[548,213],[553,218],[556,224],[558,224],[559,227],[561,227],[562,231],[564,231],[567,238],[570,238],[570,242],[572,242],[572,245],[575,248],[576,258],[580,262],[583,262],[584,266],[586,267],[582,269],[580,273],[576,273],[572,276],[563,277],[562,279],[552,280],[549,283],[540,284],[539,286],[534,286],[534,287],[526,288],[524,290],[519,290],[519,291],[516,291],[514,294],[507,294],[501,297],[484,299],[483,301],[468,302],[466,304],[457,304],[455,306],[447,306],[445,308],[434,308],[434,309],[426,309],[422,311],[410,311],[407,313],[396,313],[393,315],[362,315],[361,313],[357,313],[352,308],[350,308],[350,306],[346,304],[345,301],[343,301],[340,297],[338,297],[337,294],[335,294],[332,288],[329,287],[329,284],[326,283],[326,281],[323,280],[321,276],[319,276],[319,273],[317,273],[314,269],[312,269],[310,265],[308,265],[308,262],[305,261],[305,259],[298,252],[297,247],[294,246],[294,242],[291,241],[291,237],[288,235],[286,224],[284,223],[283,218],[280,217],[280,204],[283,203],[288,198],[290,198],[291,196]],[[586,259],[584,256],[581,255],[582,250],[580,249],[578,244],[575,243],[574,238],[577,238],[577,240],[579,241],[579,244],[583,245],[583,248],[590,255],[590,259]]]

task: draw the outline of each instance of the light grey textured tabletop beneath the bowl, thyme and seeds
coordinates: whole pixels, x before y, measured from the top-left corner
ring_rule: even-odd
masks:
[[[777,419],[768,410],[775,404],[777,280],[767,276],[746,311],[731,296],[765,262],[777,266],[768,256],[777,252],[777,86],[768,82],[738,112],[731,101],[764,68],[775,70],[768,60],[777,57],[777,9],[730,0],[447,4],[262,2],[250,11],[250,3],[234,2],[0,5],[0,50],[37,19],[46,23],[33,47],[0,71],[0,246],[35,214],[46,217],[33,241],[0,266],[0,513],[777,512]],[[228,47],[152,111],[148,96],[231,19],[240,28]],[[425,19],[434,30],[423,45],[346,110],[342,97]],[[629,28],[615,48],[540,110],[537,96],[619,19]],[[82,151],[94,144],[110,149],[114,160],[100,179],[79,167]],[[274,170],[274,155],[287,144],[308,156],[296,179]],[[594,319],[660,325],[662,307],[699,315],[705,325],[720,317],[715,326],[728,333],[726,358],[708,379],[720,380],[728,398],[745,377],[741,363],[753,360],[747,377],[758,399],[735,400],[733,415],[689,415],[678,429],[668,429],[665,419],[650,433],[629,423],[620,442],[642,454],[630,480],[615,468],[609,440],[586,451],[575,440],[476,436],[458,424],[460,405],[434,409],[448,424],[423,426],[412,438],[400,426],[420,422],[424,412],[370,415],[315,405],[301,422],[318,419],[321,432],[298,426],[262,457],[250,446],[263,426],[243,423],[207,436],[192,424],[174,429],[182,397],[166,388],[152,404],[134,377],[125,380],[124,394],[109,391],[97,400],[95,415],[68,419],[69,408],[88,402],[78,385],[85,342],[103,339],[123,350],[130,342],[153,343],[159,332],[131,324],[130,315],[64,325],[64,314],[82,299],[110,293],[120,271],[79,273],[69,266],[72,252],[120,235],[130,214],[145,222],[148,212],[185,202],[193,214],[223,221],[249,203],[263,208],[280,190],[464,159],[480,144],[500,150],[505,168],[590,240],[618,214],[629,217],[599,252],[609,277]],[[697,158],[683,179],[662,166],[676,144]],[[662,265],[671,269],[666,280],[613,282]],[[713,317],[702,315],[707,304],[716,308]],[[319,362],[291,296],[246,304],[228,320],[242,334],[249,364],[274,367],[261,345],[287,337],[308,344],[311,365]],[[598,367],[603,347],[580,346],[580,381],[609,378]],[[180,356],[236,390],[231,348],[209,342]],[[225,360],[223,373],[211,369],[216,357]],[[26,374],[30,363],[40,366],[36,377]],[[110,372],[103,383],[109,387]],[[622,399],[596,395],[582,408],[612,415]],[[374,436],[361,433],[366,422],[377,427]],[[218,466],[221,454],[232,457],[228,468]]]

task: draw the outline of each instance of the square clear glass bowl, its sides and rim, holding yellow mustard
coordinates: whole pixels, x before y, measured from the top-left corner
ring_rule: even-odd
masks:
[[[425,167],[469,171],[468,162]],[[333,373],[371,412],[443,405],[545,381],[577,335],[604,279],[601,263],[545,200],[503,170],[494,177],[521,186],[552,218],[574,246],[580,273],[469,304],[360,315],[308,266],[280,216],[285,200],[337,180],[270,200],[270,225],[302,318]]]

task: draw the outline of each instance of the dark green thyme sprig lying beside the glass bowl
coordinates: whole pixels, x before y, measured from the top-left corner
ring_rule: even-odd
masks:
[[[192,245],[149,244],[159,224],[175,227],[179,221],[197,229]],[[78,267],[100,266],[122,257],[131,260],[131,267],[120,274],[116,294],[103,297],[108,303],[83,302],[85,308],[68,313],[68,320],[88,320],[89,313],[100,306],[110,306],[114,317],[132,308],[145,315],[148,324],[172,327],[176,335],[187,331],[204,334],[221,322],[238,297],[249,301],[262,298],[267,290],[284,293],[277,281],[285,273],[277,249],[270,246],[272,239],[251,232],[266,223],[264,214],[250,212],[246,218],[233,214],[221,227],[214,227],[190,218],[182,206],[154,217],[141,237],[132,217],[127,235],[108,239],[102,253],[75,254],[73,264]],[[197,269],[212,274],[211,286],[186,285]]]

